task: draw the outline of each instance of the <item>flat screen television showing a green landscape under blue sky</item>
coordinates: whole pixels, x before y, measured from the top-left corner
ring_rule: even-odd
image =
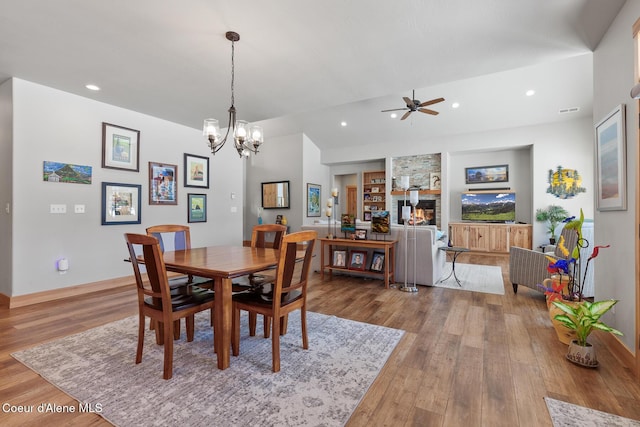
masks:
[[[516,193],[468,191],[462,193],[462,220],[507,222],[516,220]]]

